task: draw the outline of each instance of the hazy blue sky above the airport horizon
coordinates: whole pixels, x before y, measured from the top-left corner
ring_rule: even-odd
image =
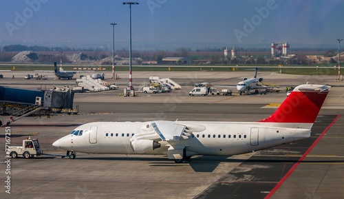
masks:
[[[0,45],[129,42],[129,6],[118,0],[1,0]],[[344,38],[341,0],[144,0],[131,7],[133,46],[272,42],[338,45]],[[269,46],[268,45],[268,46]],[[197,45],[196,45],[197,46]],[[267,47],[268,47],[267,46]],[[155,50],[155,49],[152,49]]]

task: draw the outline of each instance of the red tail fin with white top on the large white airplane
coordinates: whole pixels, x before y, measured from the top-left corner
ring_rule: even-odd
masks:
[[[326,85],[299,85],[275,113],[259,122],[314,123],[329,89]]]

